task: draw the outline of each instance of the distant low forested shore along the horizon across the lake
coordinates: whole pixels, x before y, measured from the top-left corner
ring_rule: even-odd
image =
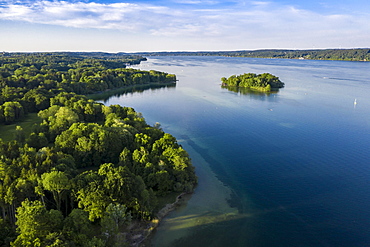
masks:
[[[227,56],[314,60],[370,61],[370,49],[242,50],[200,52],[144,52],[144,56]]]

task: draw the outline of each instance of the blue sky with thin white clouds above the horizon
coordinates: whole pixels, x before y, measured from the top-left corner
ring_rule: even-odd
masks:
[[[369,0],[0,0],[3,51],[370,47]]]

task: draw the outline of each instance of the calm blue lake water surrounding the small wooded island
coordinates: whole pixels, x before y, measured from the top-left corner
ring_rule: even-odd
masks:
[[[136,68],[179,81],[105,104],[161,123],[199,177],[153,246],[370,246],[370,63],[150,57]],[[220,87],[221,77],[249,72],[285,88]]]

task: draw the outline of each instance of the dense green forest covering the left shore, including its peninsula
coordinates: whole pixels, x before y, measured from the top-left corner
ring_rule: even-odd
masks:
[[[125,68],[144,58],[101,53],[0,55],[1,246],[126,246],[122,226],[151,219],[158,197],[191,192],[194,167],[176,139],[130,107],[82,94],[176,81]]]

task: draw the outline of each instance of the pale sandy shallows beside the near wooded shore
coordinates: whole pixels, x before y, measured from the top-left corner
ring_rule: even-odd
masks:
[[[193,235],[199,226],[238,218],[238,210],[230,207],[232,191],[211,170],[210,165],[189,145],[180,143],[189,153],[199,184],[188,200],[164,218],[151,238],[151,246],[174,246],[176,241]],[[240,217],[240,215],[239,215]]]

